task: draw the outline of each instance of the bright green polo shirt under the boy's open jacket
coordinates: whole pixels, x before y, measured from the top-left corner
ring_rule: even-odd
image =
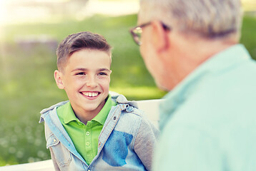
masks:
[[[84,125],[84,123],[74,115],[70,102],[57,108],[59,120],[72,139],[77,152],[82,155],[88,165],[97,155],[99,134],[102,131],[109,111],[112,106],[115,105],[117,104],[111,100],[111,96],[109,95],[102,110],[92,120],[88,121],[87,125]]]

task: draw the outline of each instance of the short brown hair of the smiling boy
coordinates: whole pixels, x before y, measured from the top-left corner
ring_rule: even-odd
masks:
[[[61,43],[59,43],[56,50],[57,67],[59,71],[63,71],[69,56],[72,56],[74,52],[80,51],[84,48],[107,52],[109,54],[111,63],[112,47],[109,45],[109,43],[107,43],[106,39],[97,33],[83,31],[71,34],[67,36],[67,38],[64,38]]]

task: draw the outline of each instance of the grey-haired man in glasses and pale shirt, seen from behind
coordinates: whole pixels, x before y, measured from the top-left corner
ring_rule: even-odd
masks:
[[[141,0],[131,30],[157,86],[154,170],[255,170],[256,64],[239,0]]]

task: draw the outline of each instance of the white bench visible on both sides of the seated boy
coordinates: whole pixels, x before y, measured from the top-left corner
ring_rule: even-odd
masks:
[[[147,118],[158,128],[159,120],[159,102],[161,100],[139,100],[137,101],[139,108],[144,110]],[[54,165],[51,160],[41,162],[31,162],[21,165],[10,165],[0,167],[0,171],[54,171]]]

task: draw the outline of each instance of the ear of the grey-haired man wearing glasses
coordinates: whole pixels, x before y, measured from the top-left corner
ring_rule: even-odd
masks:
[[[168,31],[164,29],[159,21],[152,21],[152,41],[158,52],[165,51],[169,47]]]

